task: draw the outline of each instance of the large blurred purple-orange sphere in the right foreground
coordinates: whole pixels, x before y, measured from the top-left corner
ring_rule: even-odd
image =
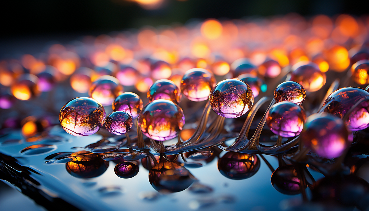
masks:
[[[333,115],[313,114],[307,118],[301,141],[318,156],[328,159],[341,156],[349,142],[342,119]]]

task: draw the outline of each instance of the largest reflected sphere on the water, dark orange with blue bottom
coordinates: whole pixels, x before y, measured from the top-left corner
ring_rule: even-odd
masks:
[[[183,191],[196,180],[189,170],[173,162],[158,163],[149,170],[151,186],[162,193]]]

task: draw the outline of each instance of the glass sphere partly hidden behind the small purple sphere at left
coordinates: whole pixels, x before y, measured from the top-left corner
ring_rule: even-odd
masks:
[[[141,98],[133,92],[121,93],[113,102],[112,108],[114,111],[124,111],[136,118],[144,108]]]

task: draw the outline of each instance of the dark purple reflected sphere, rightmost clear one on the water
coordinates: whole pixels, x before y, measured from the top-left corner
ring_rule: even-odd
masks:
[[[278,167],[270,177],[272,186],[280,193],[296,195],[301,193],[300,179],[293,165],[283,165]]]

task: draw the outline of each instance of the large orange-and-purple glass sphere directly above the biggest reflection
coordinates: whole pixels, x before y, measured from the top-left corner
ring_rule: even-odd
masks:
[[[158,141],[173,139],[183,128],[183,111],[172,101],[152,101],[139,114],[138,125],[149,138]]]

